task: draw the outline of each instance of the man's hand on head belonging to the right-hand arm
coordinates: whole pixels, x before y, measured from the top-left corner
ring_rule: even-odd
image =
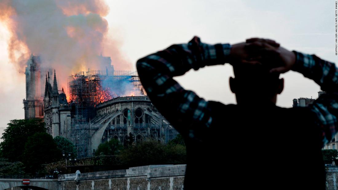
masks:
[[[247,49],[256,54],[256,58],[252,60],[270,64],[268,65],[271,67],[270,73],[286,73],[290,71],[296,62],[296,55],[283,47],[273,46],[271,41],[273,40],[262,38],[247,39]]]

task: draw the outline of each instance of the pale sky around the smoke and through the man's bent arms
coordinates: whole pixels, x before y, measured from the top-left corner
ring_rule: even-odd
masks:
[[[194,35],[204,43],[238,43],[250,37],[271,38],[289,50],[316,54],[338,62],[335,55],[335,1],[106,1],[109,36],[120,44],[135,69],[137,59],[171,44],[187,43]],[[0,23],[0,127],[24,118],[25,77],[9,63],[9,33]],[[109,52],[105,56],[114,57]],[[113,62],[114,64],[114,62]],[[236,103],[229,89],[232,67],[204,67],[177,77],[182,86],[207,100]],[[303,75],[289,72],[277,105],[292,107],[292,99],[317,98],[319,86]],[[260,93],[260,92],[254,92]],[[247,94],[250,98],[250,94]]]

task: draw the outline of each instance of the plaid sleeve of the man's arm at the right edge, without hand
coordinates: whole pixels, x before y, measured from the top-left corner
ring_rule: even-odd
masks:
[[[293,52],[296,55],[296,63],[292,70],[314,80],[326,92],[309,106],[317,115],[316,123],[320,127],[324,146],[334,138],[338,130],[338,69],[334,63],[322,60],[316,55]]]

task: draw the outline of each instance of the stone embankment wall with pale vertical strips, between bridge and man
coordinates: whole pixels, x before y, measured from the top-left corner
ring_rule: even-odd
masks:
[[[182,190],[186,165],[149,165],[59,175],[59,190]]]

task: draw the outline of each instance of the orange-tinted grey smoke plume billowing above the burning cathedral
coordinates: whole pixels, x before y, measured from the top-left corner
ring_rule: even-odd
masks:
[[[59,89],[66,89],[69,75],[97,68],[108,31],[103,17],[108,12],[101,0],[1,0],[0,19],[11,35],[10,61],[23,73],[30,55],[40,55],[46,70],[56,70]],[[104,56],[123,60],[118,48],[111,46],[114,52]]]

